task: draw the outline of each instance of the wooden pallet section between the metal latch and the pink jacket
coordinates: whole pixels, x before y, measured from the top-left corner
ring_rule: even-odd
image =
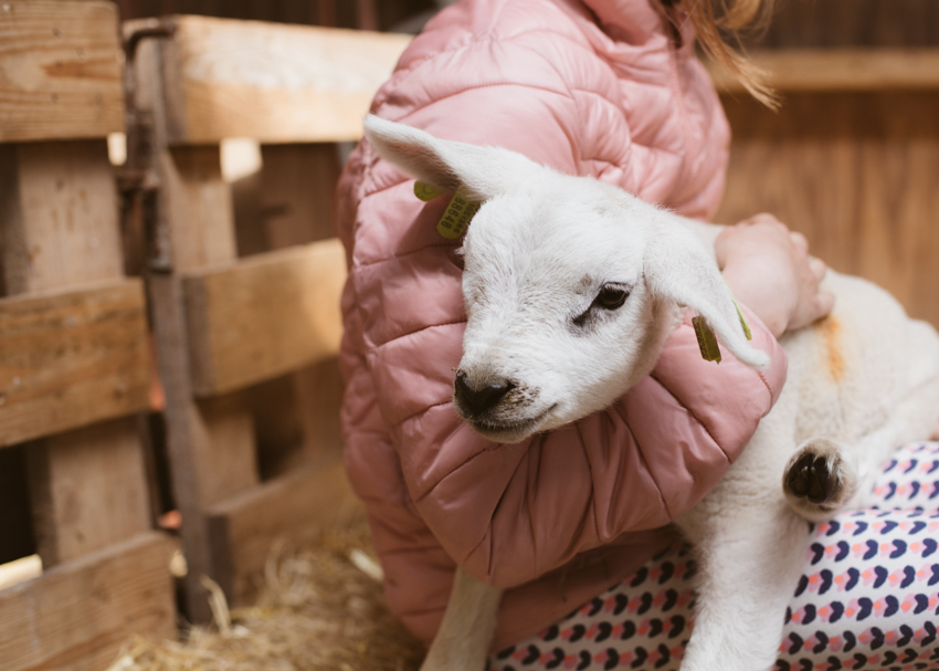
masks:
[[[133,111],[151,119],[154,149],[136,167],[159,185],[168,241],[148,294],[188,610],[204,620],[199,575],[243,602],[277,538],[335,523],[351,500],[336,373],[346,261],[324,230],[338,159],[324,143],[360,137],[369,101],[409,38],[201,17],[158,24],[171,36],[144,43],[135,59]],[[233,136],[262,144],[253,193],[267,186],[267,201],[255,202],[255,214],[266,214],[238,227],[220,162],[220,143]],[[241,258],[238,240],[242,256],[253,255]],[[281,475],[262,482],[272,433],[296,444],[265,469]]]

